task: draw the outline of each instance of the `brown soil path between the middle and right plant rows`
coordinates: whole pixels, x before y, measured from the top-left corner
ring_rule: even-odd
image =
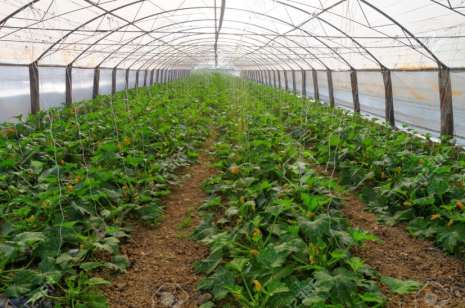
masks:
[[[346,193],[343,201],[342,211],[351,225],[380,239],[365,243],[355,253],[383,276],[425,283],[416,294],[389,296],[389,307],[465,307],[462,260],[445,255],[429,241],[411,237],[403,226],[379,224],[354,194]]]

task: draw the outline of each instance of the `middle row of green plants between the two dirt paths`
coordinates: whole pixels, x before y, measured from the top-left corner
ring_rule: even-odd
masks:
[[[351,249],[374,236],[349,227],[337,183],[316,174],[309,152],[277,116],[281,101],[263,88],[217,77],[217,175],[194,238],[210,247],[196,265],[213,300],[203,307],[377,307],[379,286],[407,293],[412,281],[381,277]],[[276,114],[275,114],[276,113]]]

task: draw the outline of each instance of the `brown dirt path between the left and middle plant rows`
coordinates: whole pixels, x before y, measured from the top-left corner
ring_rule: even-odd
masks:
[[[210,144],[207,141],[206,148]],[[104,290],[110,307],[196,307],[202,301],[195,291],[199,277],[192,267],[208,255],[208,248],[187,237],[198,224],[196,208],[206,198],[202,183],[213,172],[205,151],[165,199],[162,223],[135,228],[132,240],[122,248],[132,267]]]

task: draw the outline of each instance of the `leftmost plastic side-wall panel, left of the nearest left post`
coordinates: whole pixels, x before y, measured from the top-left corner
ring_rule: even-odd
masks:
[[[13,121],[31,111],[29,69],[0,66],[0,122]]]

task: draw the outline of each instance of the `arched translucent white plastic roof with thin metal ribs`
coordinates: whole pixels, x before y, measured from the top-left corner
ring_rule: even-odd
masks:
[[[0,0],[0,63],[465,67],[463,0]]]

